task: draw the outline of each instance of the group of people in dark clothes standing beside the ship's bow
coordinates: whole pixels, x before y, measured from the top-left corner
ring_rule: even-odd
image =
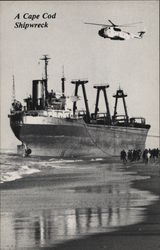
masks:
[[[159,156],[160,150],[158,148],[144,149],[144,151],[141,151],[140,149],[129,149],[128,152],[123,149],[120,153],[120,158],[123,163],[126,163],[127,161],[139,161],[141,158],[144,163],[148,163],[149,160],[155,161]]]

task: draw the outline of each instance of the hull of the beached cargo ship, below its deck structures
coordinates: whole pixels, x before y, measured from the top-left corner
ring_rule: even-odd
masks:
[[[86,124],[82,119],[23,117],[11,127],[33,155],[51,157],[119,156],[122,149],[145,148],[148,129]]]

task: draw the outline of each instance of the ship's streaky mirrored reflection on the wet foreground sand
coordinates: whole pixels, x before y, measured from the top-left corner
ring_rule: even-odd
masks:
[[[124,215],[120,216],[120,210],[113,211],[112,207],[108,209],[76,208],[67,211],[46,210],[35,217],[31,213],[28,218],[22,215],[20,220],[15,219],[13,222],[15,249],[24,246],[45,246],[100,232],[116,223],[117,226],[122,224],[121,219],[124,219]]]

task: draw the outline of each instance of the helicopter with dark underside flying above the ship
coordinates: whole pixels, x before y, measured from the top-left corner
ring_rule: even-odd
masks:
[[[132,34],[130,32],[123,31],[120,28],[120,27],[130,27],[138,23],[142,23],[142,22],[118,25],[118,24],[114,24],[111,20],[108,20],[108,21],[110,22],[110,24],[86,23],[86,22],[84,24],[102,26],[103,28],[98,31],[99,36],[103,38],[109,38],[111,40],[123,41],[123,40],[129,40],[132,38],[142,39],[143,35],[145,34],[145,31],[139,31],[137,34]]]

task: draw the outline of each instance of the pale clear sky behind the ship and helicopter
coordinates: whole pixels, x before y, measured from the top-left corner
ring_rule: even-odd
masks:
[[[95,84],[107,89],[111,113],[112,95],[119,86],[128,94],[129,116],[145,117],[151,124],[150,135],[159,133],[159,1],[2,1],[1,5],[1,147],[15,147],[7,115],[12,98],[12,75],[16,98],[20,101],[32,91],[32,80],[41,79],[48,54],[49,89],[61,90],[64,65],[67,95],[73,94],[72,79],[87,78],[87,95],[91,111],[95,107]],[[17,14],[20,19],[15,19]],[[23,14],[40,15],[38,20],[24,20]],[[42,14],[55,19],[42,19]],[[123,28],[132,33],[146,31],[143,39],[112,41],[98,36],[99,26],[84,22],[108,24],[143,22]],[[16,29],[15,22],[43,23],[48,28]],[[81,103],[79,105],[82,105]],[[103,99],[101,108],[104,109]],[[158,146],[158,138],[148,138],[147,146]]]

